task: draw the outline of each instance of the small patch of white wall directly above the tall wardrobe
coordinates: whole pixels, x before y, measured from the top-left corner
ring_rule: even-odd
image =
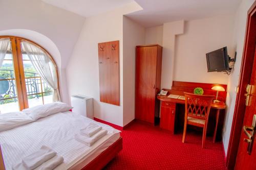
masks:
[[[163,45],[163,26],[146,28],[145,44]]]

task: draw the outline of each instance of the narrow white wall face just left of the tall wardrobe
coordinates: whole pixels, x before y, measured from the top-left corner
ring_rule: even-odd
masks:
[[[123,126],[135,118],[135,48],[143,44],[145,28],[123,16]]]

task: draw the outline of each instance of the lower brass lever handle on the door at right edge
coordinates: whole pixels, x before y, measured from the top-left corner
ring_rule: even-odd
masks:
[[[243,131],[247,138],[244,138],[244,142],[248,143],[247,145],[247,153],[251,154],[251,149],[253,145],[253,138],[256,132],[256,114],[253,115],[251,127],[243,126]]]

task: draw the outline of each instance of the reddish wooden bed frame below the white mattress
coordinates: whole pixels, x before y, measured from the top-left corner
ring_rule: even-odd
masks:
[[[82,170],[89,169],[102,169],[106,164],[108,164],[123,148],[123,138],[120,137],[115,143],[110,145],[108,149],[103,151],[100,155],[98,155],[95,159],[93,159],[89,164],[84,166]],[[0,146],[0,169],[5,170],[4,159]]]

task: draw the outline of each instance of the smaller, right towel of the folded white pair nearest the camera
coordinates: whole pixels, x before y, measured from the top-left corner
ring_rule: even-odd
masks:
[[[35,170],[52,170],[59,164],[61,164],[63,160],[64,159],[62,156],[56,155],[53,158],[46,161],[45,163],[43,163],[41,166],[37,167]]]

